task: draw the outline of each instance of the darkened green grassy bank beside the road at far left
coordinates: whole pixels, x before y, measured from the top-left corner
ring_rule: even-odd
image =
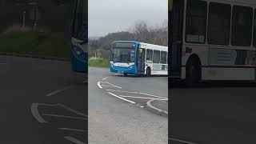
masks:
[[[68,58],[70,40],[63,34],[48,34],[42,38],[33,31],[10,31],[0,34],[0,51]]]

